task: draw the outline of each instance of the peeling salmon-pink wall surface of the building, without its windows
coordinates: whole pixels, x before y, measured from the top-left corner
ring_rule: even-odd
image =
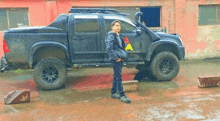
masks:
[[[220,0],[0,0],[0,8],[28,8],[30,26],[50,24],[59,14],[74,7],[161,7],[161,27],[180,34],[186,58],[219,56],[220,26],[198,26],[199,5],[220,4]],[[0,32],[0,57],[3,32]]]

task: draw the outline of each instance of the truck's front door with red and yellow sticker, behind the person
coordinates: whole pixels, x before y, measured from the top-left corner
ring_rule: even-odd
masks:
[[[143,49],[143,37],[142,35],[137,35],[136,33],[136,26],[134,23],[132,23],[130,20],[127,20],[122,17],[116,18],[115,16],[104,16],[105,19],[105,30],[106,33],[111,30],[111,22],[114,20],[119,20],[121,22],[121,31],[119,32],[120,35],[125,37],[129,44],[127,45],[127,53],[128,58],[125,60],[125,62],[138,62],[144,60],[144,49]],[[125,39],[124,38],[124,39]],[[106,46],[105,46],[106,47]],[[107,52],[106,52],[107,53]],[[108,60],[108,55],[106,54],[104,57],[104,61]]]

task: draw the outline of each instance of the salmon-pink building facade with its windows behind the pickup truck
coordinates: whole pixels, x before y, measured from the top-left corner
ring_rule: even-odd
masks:
[[[116,8],[149,28],[181,36],[186,59],[220,56],[220,0],[0,0],[0,57],[5,30],[46,26],[71,7]],[[30,40],[31,41],[31,40]]]

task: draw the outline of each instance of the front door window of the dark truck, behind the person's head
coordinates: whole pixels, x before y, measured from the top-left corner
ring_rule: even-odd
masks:
[[[106,32],[110,31],[111,30],[111,23],[113,22],[114,20],[113,19],[106,19],[105,20],[105,30]],[[125,22],[125,21],[122,21],[120,20],[121,22],[121,31],[120,33],[130,33],[132,30],[135,30],[135,26]]]

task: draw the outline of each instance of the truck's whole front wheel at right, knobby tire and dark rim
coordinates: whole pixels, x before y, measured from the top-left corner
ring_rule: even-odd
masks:
[[[171,68],[164,73],[166,68]],[[177,76],[180,70],[179,60],[172,52],[160,52],[152,60],[150,65],[150,71],[157,80],[170,81]],[[169,72],[170,71],[170,72]],[[169,72],[169,73],[168,73]]]

